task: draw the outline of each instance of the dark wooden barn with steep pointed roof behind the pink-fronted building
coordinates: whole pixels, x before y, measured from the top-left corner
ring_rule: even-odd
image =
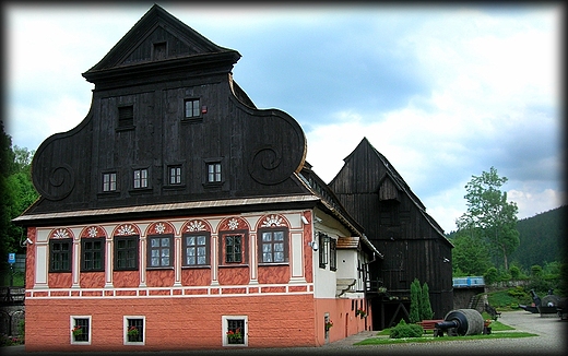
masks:
[[[453,246],[397,169],[364,138],[329,186],[384,254],[370,270],[374,325],[407,320],[414,278],[428,284],[434,318],[443,319],[453,308]]]

